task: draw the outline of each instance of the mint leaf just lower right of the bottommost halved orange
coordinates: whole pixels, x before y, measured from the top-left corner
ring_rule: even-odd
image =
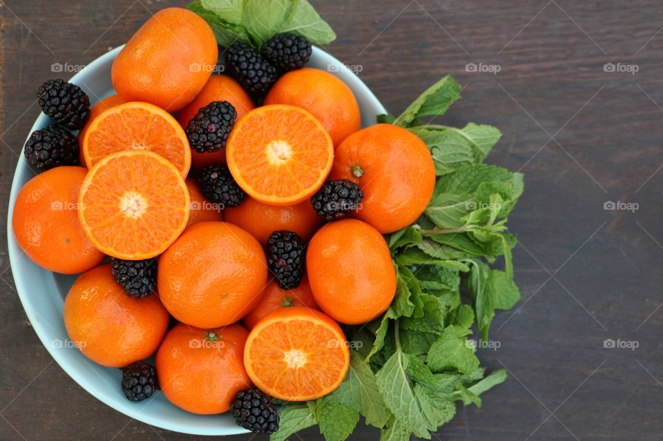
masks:
[[[332,393],[338,402],[357,411],[366,420],[366,424],[381,429],[390,418],[375,374],[356,351],[350,351],[350,367],[343,383]]]

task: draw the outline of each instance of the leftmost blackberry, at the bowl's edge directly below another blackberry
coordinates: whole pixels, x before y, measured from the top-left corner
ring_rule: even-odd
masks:
[[[41,171],[78,165],[78,152],[77,137],[56,124],[32,132],[23,149],[28,162]]]

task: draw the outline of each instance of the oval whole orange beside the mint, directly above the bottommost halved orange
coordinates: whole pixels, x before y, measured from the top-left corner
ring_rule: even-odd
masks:
[[[306,268],[318,306],[337,322],[369,322],[387,310],[396,294],[387,242],[357,219],[320,228],[309,242]]]

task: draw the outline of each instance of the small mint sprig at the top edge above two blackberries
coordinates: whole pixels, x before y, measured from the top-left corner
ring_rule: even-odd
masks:
[[[318,45],[336,39],[334,30],[307,0],[195,0],[187,8],[209,23],[222,47],[241,41],[259,49],[281,32]]]

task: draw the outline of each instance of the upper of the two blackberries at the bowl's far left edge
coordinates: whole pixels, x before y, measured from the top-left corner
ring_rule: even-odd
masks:
[[[79,130],[90,117],[90,98],[75,84],[49,79],[37,92],[39,106],[57,124]]]

